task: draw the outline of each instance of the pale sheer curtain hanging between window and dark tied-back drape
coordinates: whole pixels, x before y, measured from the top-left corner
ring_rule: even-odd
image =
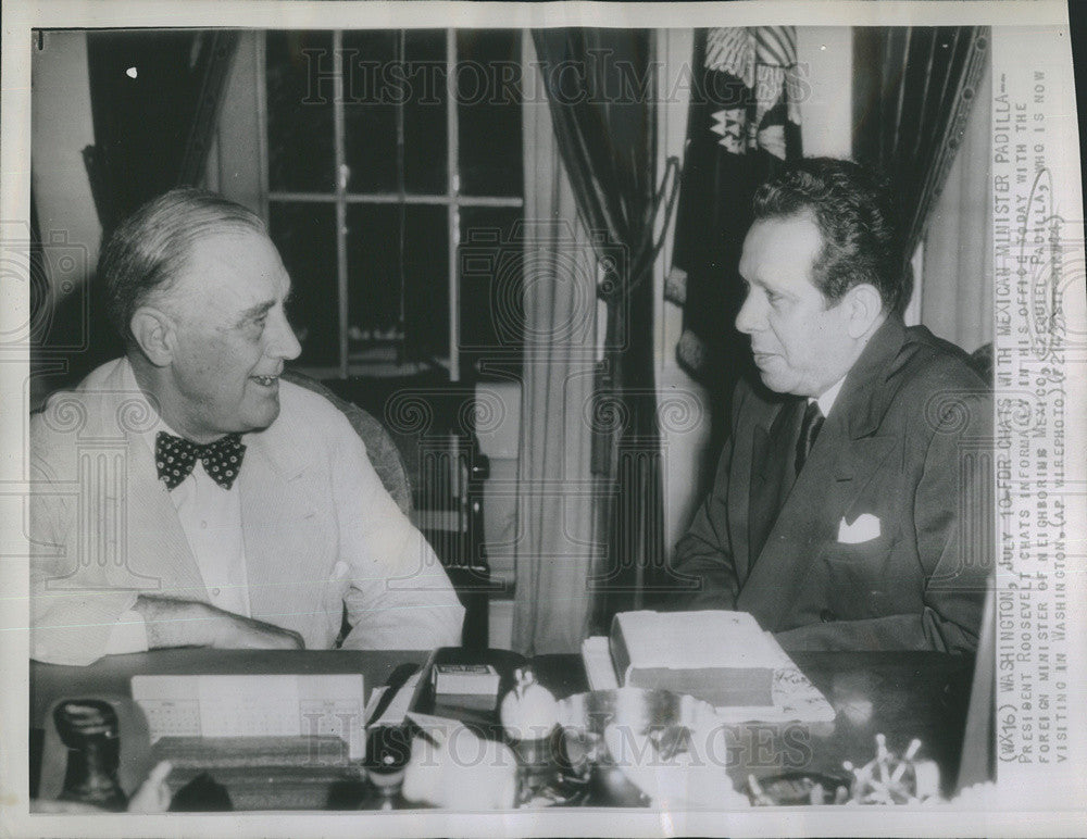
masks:
[[[599,553],[591,436],[580,411],[592,399],[597,260],[548,103],[526,97],[523,108],[525,350],[513,648],[574,652],[588,630],[587,580]]]

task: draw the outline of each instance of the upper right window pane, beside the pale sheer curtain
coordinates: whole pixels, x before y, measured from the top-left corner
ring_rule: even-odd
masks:
[[[520,196],[521,34],[457,33],[457,90],[461,192]]]

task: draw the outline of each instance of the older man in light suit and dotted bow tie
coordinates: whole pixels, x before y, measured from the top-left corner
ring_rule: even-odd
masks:
[[[32,655],[160,647],[429,649],[463,609],[324,398],[263,222],[174,190],[124,222],[100,280],[124,358],[32,418]]]

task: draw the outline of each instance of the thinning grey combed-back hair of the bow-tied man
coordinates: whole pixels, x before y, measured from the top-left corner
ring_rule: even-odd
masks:
[[[173,189],[153,198],[110,235],[98,260],[107,313],[128,345],[133,314],[152,291],[166,291],[185,268],[191,247],[216,233],[252,230],[264,222],[241,204],[203,189]]]

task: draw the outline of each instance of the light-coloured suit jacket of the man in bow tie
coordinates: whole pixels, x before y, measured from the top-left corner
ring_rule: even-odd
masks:
[[[143,439],[154,422],[127,361],[53,396],[30,423],[30,649],[87,664],[140,593],[208,601]],[[280,413],[243,435],[238,476],[252,616],[352,649],[460,643],[463,608],[430,547],[323,397],[279,385]]]

